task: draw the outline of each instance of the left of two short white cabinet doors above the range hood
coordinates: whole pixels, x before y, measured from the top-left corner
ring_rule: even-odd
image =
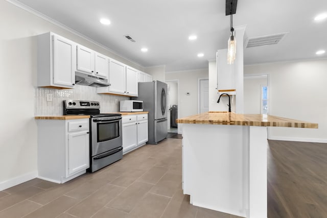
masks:
[[[82,45],[77,45],[77,70],[94,75],[94,56],[95,53],[93,50]]]

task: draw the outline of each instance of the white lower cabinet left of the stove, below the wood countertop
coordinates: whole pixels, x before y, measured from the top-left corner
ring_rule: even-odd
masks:
[[[89,119],[40,119],[38,178],[64,183],[89,167]]]

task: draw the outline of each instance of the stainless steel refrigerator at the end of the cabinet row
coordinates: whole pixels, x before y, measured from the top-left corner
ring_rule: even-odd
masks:
[[[138,97],[143,110],[149,111],[149,144],[157,144],[168,135],[167,84],[160,81],[138,83]]]

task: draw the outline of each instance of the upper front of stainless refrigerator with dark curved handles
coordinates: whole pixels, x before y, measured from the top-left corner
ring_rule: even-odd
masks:
[[[156,81],[155,84],[155,117],[154,119],[167,118],[167,84]]]

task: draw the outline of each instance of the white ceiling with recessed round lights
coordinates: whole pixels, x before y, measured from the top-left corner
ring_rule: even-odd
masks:
[[[19,0],[143,67],[166,71],[207,68],[227,47],[225,0]],[[326,0],[239,0],[233,26],[246,25],[247,37],[290,32],[277,45],[244,49],[244,64],[327,58]],[[99,20],[105,17],[111,25]],[[136,42],[127,40],[129,34]],[[191,34],[197,40],[189,41]],[[142,53],[142,47],[148,47]],[[198,53],[204,57],[198,58]]]

